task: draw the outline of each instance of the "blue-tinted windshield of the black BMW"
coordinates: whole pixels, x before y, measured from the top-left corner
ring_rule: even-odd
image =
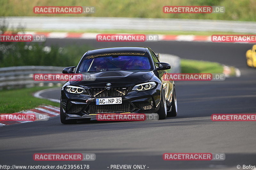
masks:
[[[139,53],[144,54],[145,53]],[[114,70],[148,70],[151,69],[148,56],[139,55],[90,55],[81,62],[78,72],[114,71]],[[93,58],[92,58],[93,57]]]

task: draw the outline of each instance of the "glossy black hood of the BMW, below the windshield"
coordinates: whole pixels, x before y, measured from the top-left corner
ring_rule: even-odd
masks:
[[[106,86],[105,83],[113,83],[115,85],[137,84],[141,82],[148,82],[154,75],[154,72],[147,70],[126,70],[126,71],[102,71],[83,74],[83,81],[72,81],[72,85],[84,86]],[[118,83],[118,84],[117,84]]]

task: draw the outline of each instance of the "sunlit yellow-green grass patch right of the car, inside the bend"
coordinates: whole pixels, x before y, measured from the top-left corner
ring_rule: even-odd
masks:
[[[220,63],[181,59],[181,73],[222,73]]]

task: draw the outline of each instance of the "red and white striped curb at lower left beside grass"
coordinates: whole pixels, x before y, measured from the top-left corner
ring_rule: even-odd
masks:
[[[18,112],[18,113],[35,114],[36,115],[36,120],[38,121],[38,120],[41,120],[42,117],[50,118],[50,117],[60,115],[60,108],[55,107],[55,106],[51,106],[51,105],[41,105],[41,106],[38,106],[34,109],[23,110],[23,111]],[[1,117],[1,115],[0,115],[0,117]],[[0,120],[0,126],[26,123],[26,122],[35,122],[35,121],[1,121]]]

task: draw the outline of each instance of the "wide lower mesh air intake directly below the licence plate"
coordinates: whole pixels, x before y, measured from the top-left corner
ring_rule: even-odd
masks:
[[[91,105],[91,113],[125,113],[130,112],[130,104]]]

